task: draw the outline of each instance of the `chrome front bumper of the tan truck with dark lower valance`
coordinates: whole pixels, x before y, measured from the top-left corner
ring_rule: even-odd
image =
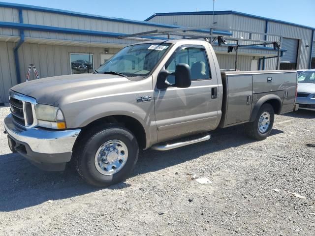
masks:
[[[35,166],[48,171],[61,171],[71,160],[72,148],[80,133],[75,130],[51,130],[34,127],[21,129],[8,115],[4,129],[13,140],[12,151],[17,151]]]

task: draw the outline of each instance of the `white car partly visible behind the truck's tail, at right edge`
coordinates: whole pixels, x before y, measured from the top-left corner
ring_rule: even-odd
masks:
[[[315,111],[315,69],[299,74],[296,103],[299,109]]]

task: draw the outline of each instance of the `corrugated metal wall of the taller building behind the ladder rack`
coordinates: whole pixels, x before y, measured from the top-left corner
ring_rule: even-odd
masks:
[[[157,23],[167,23],[173,24],[177,23],[178,25],[183,26],[211,26],[213,23],[213,15],[171,15],[171,16],[155,16],[150,19],[150,22]],[[241,29],[249,30],[256,32],[265,32],[266,20],[255,19],[252,17],[240,16],[240,15],[215,15],[215,22],[217,26],[228,27],[232,29]],[[298,59],[297,69],[306,69],[309,67],[309,61],[311,56],[311,47],[305,47],[306,45],[311,45],[312,38],[312,29],[307,29],[298,26],[292,26],[288,24],[282,24],[279,22],[268,22],[268,33],[278,34],[283,37],[301,39],[302,45],[300,46],[301,52],[299,53],[300,57]],[[233,32],[233,36],[243,36],[249,38],[249,33],[240,33]],[[263,35],[252,34],[253,39],[264,39]],[[278,41],[279,37],[268,36],[267,40]],[[242,42],[244,43],[244,42]],[[272,46],[268,46],[272,47]],[[266,59],[265,60],[265,69],[274,70],[276,69],[277,59]]]

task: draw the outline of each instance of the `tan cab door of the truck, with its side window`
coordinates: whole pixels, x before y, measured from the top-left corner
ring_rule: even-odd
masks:
[[[212,94],[218,91],[218,82],[216,76],[215,79],[211,76],[216,74],[214,63],[209,60],[210,53],[203,46],[181,46],[166,62],[164,68],[169,72],[175,72],[179,63],[188,64],[191,86],[167,89],[156,86],[154,97],[158,142],[217,127],[221,104],[218,96]],[[168,76],[166,80],[175,84],[174,76]]]

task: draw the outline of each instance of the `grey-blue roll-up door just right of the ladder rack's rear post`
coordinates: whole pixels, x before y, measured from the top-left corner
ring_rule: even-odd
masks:
[[[296,70],[299,40],[293,38],[283,38],[282,47],[287,51],[281,57],[281,70]]]

